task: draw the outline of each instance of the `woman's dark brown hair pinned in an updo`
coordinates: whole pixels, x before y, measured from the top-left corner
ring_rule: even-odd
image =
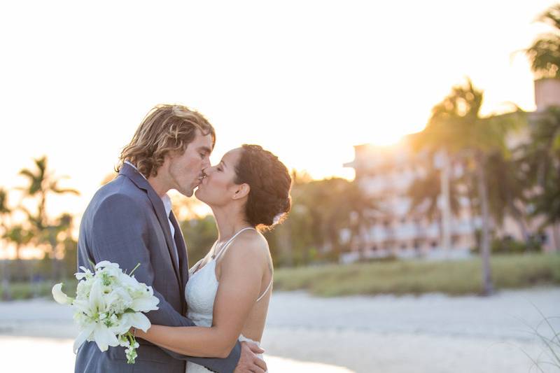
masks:
[[[236,184],[251,187],[245,205],[247,223],[266,230],[286,218],[291,208],[292,179],[276,155],[258,145],[245,144],[235,173]]]

